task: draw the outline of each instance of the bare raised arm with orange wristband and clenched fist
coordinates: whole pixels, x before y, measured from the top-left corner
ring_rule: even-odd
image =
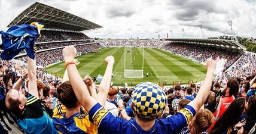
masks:
[[[63,49],[62,54],[75,96],[77,96],[78,101],[80,101],[86,111],[90,111],[91,108],[97,104],[97,101],[90,96],[86,85],[77,71],[77,66],[74,61],[75,55],[77,55],[77,49],[75,49],[74,46],[66,46]]]

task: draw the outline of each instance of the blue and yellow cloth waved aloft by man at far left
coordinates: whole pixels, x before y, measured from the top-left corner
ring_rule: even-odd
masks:
[[[42,27],[44,27],[42,23],[31,23],[13,26],[7,32],[1,31],[2,44],[0,48],[4,50],[1,54],[2,60],[11,60],[23,49],[30,58],[34,59],[35,42],[41,36]]]

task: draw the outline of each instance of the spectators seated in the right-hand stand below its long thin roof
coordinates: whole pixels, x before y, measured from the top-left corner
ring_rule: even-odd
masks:
[[[181,55],[185,58],[190,58],[198,63],[205,63],[208,58],[214,60],[217,57],[224,58],[226,60],[224,70],[230,67],[242,55],[239,52],[230,52],[226,51],[225,49],[200,45],[168,44],[163,46],[163,49],[172,52],[173,54]]]

